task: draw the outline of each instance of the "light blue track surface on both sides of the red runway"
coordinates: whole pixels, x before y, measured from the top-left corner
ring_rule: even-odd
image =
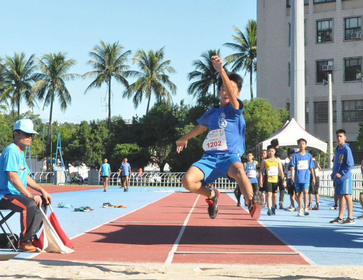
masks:
[[[52,194],[53,209],[63,230],[72,238],[155,202],[172,191],[185,190],[130,187],[129,192],[123,192],[118,187],[109,187],[107,192],[103,192],[103,189],[60,192]],[[233,193],[229,195],[235,199]],[[74,212],[72,208],[57,208],[60,202],[70,203],[74,208],[89,206],[94,212]],[[123,204],[127,208],[103,208],[104,202]],[[289,206],[289,196],[286,196],[284,204],[285,207]],[[330,224],[329,221],[338,216],[337,210],[329,210],[333,204],[333,199],[321,197],[321,210],[309,211],[309,216],[302,217],[298,217],[297,212],[284,210],[276,210],[276,216],[267,216],[267,209],[262,208],[259,222],[317,265],[363,265],[363,220],[356,219],[355,225]],[[362,211],[360,204],[354,203],[353,218],[362,215]],[[347,210],[345,217],[346,213]],[[9,225],[19,234],[19,214],[9,219]],[[5,250],[0,250],[1,252]],[[31,255],[33,254],[20,253],[16,258],[27,258]]]

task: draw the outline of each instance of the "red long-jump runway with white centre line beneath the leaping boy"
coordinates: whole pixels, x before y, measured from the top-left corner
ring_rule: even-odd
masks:
[[[235,201],[228,194],[220,195],[219,215],[214,220],[207,214],[205,199],[197,197],[196,194],[188,192],[173,193],[73,239],[76,250],[74,253],[41,253],[34,259],[164,264],[309,265],[296,254],[255,254],[295,252],[256,220],[252,220],[245,210],[236,207]],[[176,253],[170,253],[195,202]]]

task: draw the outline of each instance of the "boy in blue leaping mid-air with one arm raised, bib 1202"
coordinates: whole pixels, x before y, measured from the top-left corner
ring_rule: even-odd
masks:
[[[244,171],[240,155],[245,151],[245,126],[242,112],[244,105],[237,98],[242,88],[242,78],[235,73],[226,73],[219,56],[212,56],[213,67],[219,72],[219,107],[212,107],[197,119],[199,123],[176,141],[179,153],[187,147],[188,140],[203,133],[209,133],[203,142],[204,156],[189,167],[183,176],[183,186],[188,191],[207,197],[208,214],[214,219],[218,214],[219,191],[207,188],[219,177],[237,181],[242,195],[249,201],[253,219],[260,217],[263,197],[260,191],[253,193],[252,185]]]

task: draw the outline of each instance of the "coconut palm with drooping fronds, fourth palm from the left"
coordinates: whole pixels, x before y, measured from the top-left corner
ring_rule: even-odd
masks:
[[[156,50],[138,50],[132,63],[137,64],[140,71],[131,71],[130,76],[138,78],[123,92],[123,97],[131,98],[135,109],[141,103],[143,96],[147,98],[146,115],[149,111],[151,96],[157,102],[170,101],[171,95],[176,94],[176,85],[170,81],[166,73],[175,74],[176,70],[170,66],[170,60],[163,61],[164,47]],[[170,89],[170,92],[167,90]]]

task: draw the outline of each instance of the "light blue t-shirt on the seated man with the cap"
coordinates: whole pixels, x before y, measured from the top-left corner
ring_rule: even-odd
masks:
[[[7,171],[17,172],[21,182],[24,187],[26,187],[30,170],[25,162],[24,154],[19,151],[14,143],[7,146],[0,156],[0,172],[2,173],[0,176],[0,199],[3,198],[5,194],[21,195],[20,191],[18,191],[9,181]]]

